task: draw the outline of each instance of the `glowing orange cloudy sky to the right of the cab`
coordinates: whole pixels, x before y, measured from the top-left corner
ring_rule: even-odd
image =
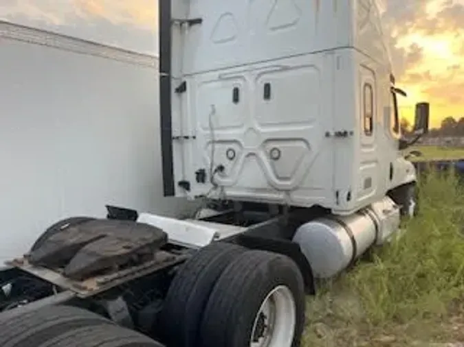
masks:
[[[432,126],[464,117],[464,1],[411,0],[395,14],[390,32],[397,79],[410,92],[401,100],[404,117],[412,121],[418,101],[430,101]]]

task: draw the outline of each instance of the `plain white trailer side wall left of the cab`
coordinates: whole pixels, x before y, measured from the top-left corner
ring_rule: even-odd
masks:
[[[104,204],[162,198],[157,59],[0,22],[0,262]]]

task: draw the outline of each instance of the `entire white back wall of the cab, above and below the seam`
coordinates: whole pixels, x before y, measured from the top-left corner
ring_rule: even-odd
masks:
[[[353,51],[362,47],[354,36],[366,12],[375,14],[374,2],[173,1],[175,195],[213,192],[334,211],[371,195],[358,196],[353,178],[360,168]],[[350,136],[336,137],[346,130]],[[360,169],[370,175],[370,167]]]

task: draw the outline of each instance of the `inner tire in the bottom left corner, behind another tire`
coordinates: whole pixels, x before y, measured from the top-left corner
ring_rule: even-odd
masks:
[[[77,307],[51,306],[0,321],[0,346],[36,347],[82,326],[114,325],[106,318]]]

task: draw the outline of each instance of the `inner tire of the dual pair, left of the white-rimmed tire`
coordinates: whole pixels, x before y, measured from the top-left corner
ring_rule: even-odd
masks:
[[[179,269],[168,289],[162,311],[164,338],[169,346],[198,346],[204,307],[219,276],[246,252],[230,243],[212,243],[199,250]]]

